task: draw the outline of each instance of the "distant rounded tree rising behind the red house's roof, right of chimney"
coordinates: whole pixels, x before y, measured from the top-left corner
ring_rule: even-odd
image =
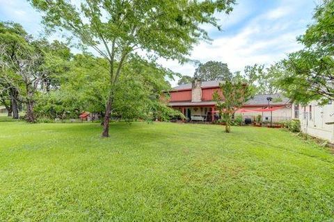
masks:
[[[205,64],[198,65],[194,76],[202,81],[210,80],[225,80],[230,81],[233,78],[233,74],[228,69],[228,65],[223,62],[209,61]]]

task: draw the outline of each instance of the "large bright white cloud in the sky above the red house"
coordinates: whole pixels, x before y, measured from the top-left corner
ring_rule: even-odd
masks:
[[[296,13],[301,12],[301,6],[304,11]],[[243,14],[244,9],[240,9],[236,18],[233,14],[230,15],[230,20],[232,24],[241,25],[242,28],[236,33],[223,32],[214,38],[212,44],[202,42],[195,46],[191,59],[200,62],[227,62],[232,71],[243,71],[246,65],[255,63],[270,65],[285,58],[287,53],[301,49],[301,45],[296,42],[296,36],[303,34],[306,24],[311,22],[312,8],[313,4],[305,8],[304,1],[300,4],[296,1],[283,1],[282,5],[252,17],[245,24],[240,24],[240,21],[244,21],[248,15]],[[225,20],[227,24],[228,20]],[[226,27],[228,26],[230,24]],[[175,61],[161,60],[161,64],[189,76],[193,76],[196,69],[194,65],[180,66]],[[177,81],[173,81],[172,85],[176,84]]]

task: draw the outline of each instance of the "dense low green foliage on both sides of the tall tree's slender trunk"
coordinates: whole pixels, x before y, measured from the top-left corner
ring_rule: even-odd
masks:
[[[82,111],[104,114],[109,87],[108,61],[88,54],[77,54],[69,63],[69,70],[59,76],[60,89],[40,96],[36,112],[40,117],[68,119]],[[132,58],[115,84],[111,114],[125,121],[166,119],[172,109],[161,103],[160,95],[170,85],[164,80],[173,72],[154,62]],[[172,113],[173,112],[173,113]]]

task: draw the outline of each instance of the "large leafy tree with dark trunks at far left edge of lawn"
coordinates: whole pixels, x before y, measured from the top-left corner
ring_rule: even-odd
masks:
[[[70,49],[57,41],[34,40],[12,22],[0,23],[0,40],[0,92],[7,90],[13,117],[18,118],[20,101],[26,104],[26,120],[33,123],[37,96],[57,85],[56,74],[64,71],[63,60],[70,59]]]

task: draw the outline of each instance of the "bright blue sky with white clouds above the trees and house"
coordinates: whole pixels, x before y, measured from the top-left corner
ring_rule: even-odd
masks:
[[[226,62],[232,71],[242,71],[245,65],[255,63],[270,65],[301,49],[296,37],[312,22],[317,3],[318,0],[239,0],[230,15],[217,15],[223,31],[203,26],[213,41],[194,46],[191,59]],[[25,0],[0,0],[0,20],[18,22],[35,36],[43,31],[39,13]],[[179,65],[163,59],[159,62],[189,76],[196,69],[191,63]]]

